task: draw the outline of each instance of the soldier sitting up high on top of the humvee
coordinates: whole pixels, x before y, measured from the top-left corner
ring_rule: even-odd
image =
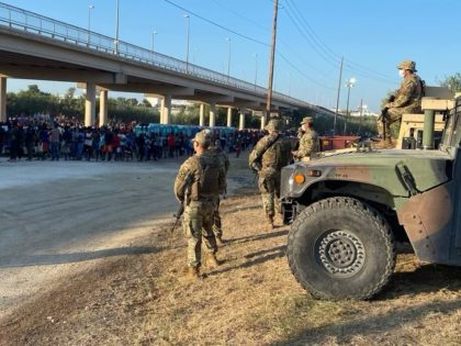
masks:
[[[381,136],[380,147],[393,147],[391,124],[402,121],[405,113],[420,113],[424,96],[424,81],[416,75],[416,63],[404,60],[398,66],[403,78],[400,88],[389,98],[378,119],[378,133]]]

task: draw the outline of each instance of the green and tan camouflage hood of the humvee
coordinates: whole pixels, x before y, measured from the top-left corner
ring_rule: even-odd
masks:
[[[417,192],[429,190],[449,180],[447,163],[450,160],[452,157],[442,150],[341,153],[291,165],[282,172],[282,181],[289,178],[288,174],[300,171],[307,177],[301,190],[319,180],[344,180],[379,186],[393,196],[408,196],[404,177],[413,180]],[[319,176],[308,177],[307,171],[312,170]]]

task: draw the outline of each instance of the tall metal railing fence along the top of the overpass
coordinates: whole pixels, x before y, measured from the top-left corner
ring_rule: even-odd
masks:
[[[61,43],[104,52],[158,68],[173,70],[179,74],[193,76],[259,96],[267,94],[266,88],[255,83],[233,78],[193,64],[188,64],[183,60],[138,47],[123,41],[116,41],[113,37],[101,35],[3,2],[0,2],[0,25],[8,26],[11,30],[37,34]],[[280,92],[273,92],[272,98],[274,101],[282,101],[297,107],[312,107],[307,102]]]

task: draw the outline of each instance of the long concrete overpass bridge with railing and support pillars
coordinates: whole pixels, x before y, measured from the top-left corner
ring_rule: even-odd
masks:
[[[238,108],[240,127],[246,110],[266,109],[267,89],[146,48],[89,32],[0,2],[0,121],[7,119],[7,79],[25,78],[85,83],[85,123],[95,123],[95,96],[100,92],[99,124],[108,122],[108,91],[161,96],[160,122],[171,122],[171,99],[210,104],[210,126],[216,107]],[[273,92],[272,105],[281,111],[311,109],[307,102]],[[261,116],[265,126],[267,115]]]

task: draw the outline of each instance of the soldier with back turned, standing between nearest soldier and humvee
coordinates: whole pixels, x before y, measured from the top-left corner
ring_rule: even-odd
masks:
[[[283,166],[291,159],[291,142],[281,134],[282,121],[269,121],[266,130],[269,134],[256,144],[249,156],[249,166],[259,176],[258,187],[262,197],[270,230],[274,227],[276,208],[279,208],[280,176]]]

